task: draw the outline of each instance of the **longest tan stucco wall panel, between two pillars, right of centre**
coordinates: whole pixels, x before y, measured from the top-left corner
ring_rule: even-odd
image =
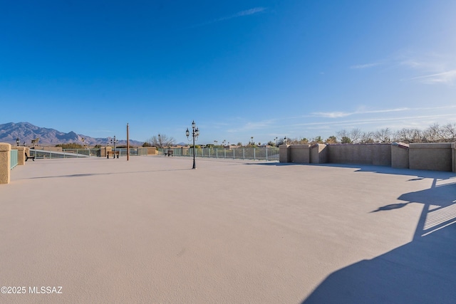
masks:
[[[391,165],[390,144],[328,145],[328,162],[335,164]]]

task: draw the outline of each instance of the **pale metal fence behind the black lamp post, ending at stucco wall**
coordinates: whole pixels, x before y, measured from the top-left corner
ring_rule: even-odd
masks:
[[[193,157],[193,148],[158,148],[158,154],[165,155],[172,150],[172,155]],[[239,148],[196,148],[195,157],[222,159],[254,159],[266,161],[279,160],[277,147],[239,147]]]

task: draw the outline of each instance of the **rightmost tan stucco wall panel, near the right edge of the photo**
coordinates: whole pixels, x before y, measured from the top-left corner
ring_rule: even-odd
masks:
[[[410,169],[452,171],[452,143],[410,144]]]

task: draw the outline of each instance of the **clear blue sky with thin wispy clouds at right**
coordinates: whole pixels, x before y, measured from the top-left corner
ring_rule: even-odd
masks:
[[[199,143],[456,122],[456,1],[0,0],[0,123]],[[33,105],[33,106],[31,106]]]

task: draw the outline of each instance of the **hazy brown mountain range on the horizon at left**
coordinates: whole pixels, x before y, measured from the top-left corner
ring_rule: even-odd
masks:
[[[58,130],[49,129],[47,127],[37,127],[30,122],[9,122],[0,125],[0,142],[7,142],[11,145],[16,145],[16,139],[19,138],[19,145],[30,146],[31,141],[39,138],[38,145],[58,145],[78,143],[90,146],[108,145],[109,138],[95,138],[87,135],[76,134],[76,132],[60,132]],[[84,142],[83,142],[84,139]],[[144,142],[130,140],[130,145],[141,146]],[[119,140],[116,145],[127,145],[126,140]]]

